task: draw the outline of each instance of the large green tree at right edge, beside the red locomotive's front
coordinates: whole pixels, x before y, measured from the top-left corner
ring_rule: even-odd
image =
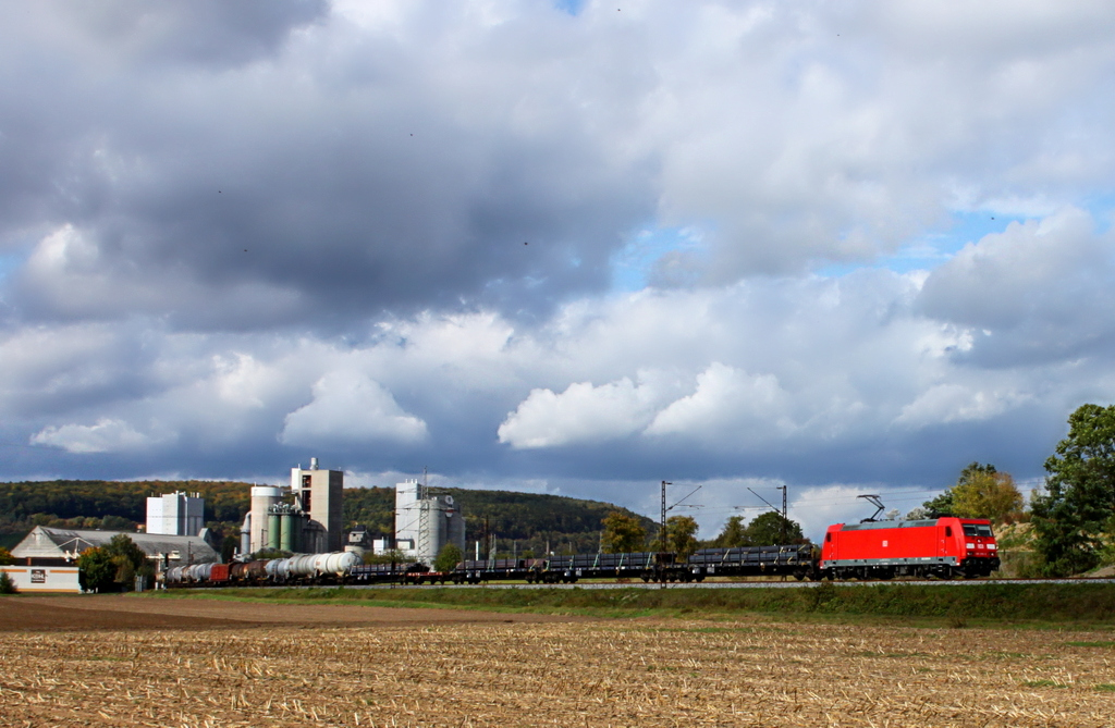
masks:
[[[1115,531],[1115,406],[1077,408],[1045,468],[1046,493],[1031,504],[1035,546],[1050,575],[1088,571]]]

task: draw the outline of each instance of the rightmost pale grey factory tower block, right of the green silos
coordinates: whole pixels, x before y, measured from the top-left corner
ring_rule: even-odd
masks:
[[[452,495],[435,495],[418,481],[395,486],[395,545],[406,555],[433,564],[446,544],[465,551],[465,518]]]

